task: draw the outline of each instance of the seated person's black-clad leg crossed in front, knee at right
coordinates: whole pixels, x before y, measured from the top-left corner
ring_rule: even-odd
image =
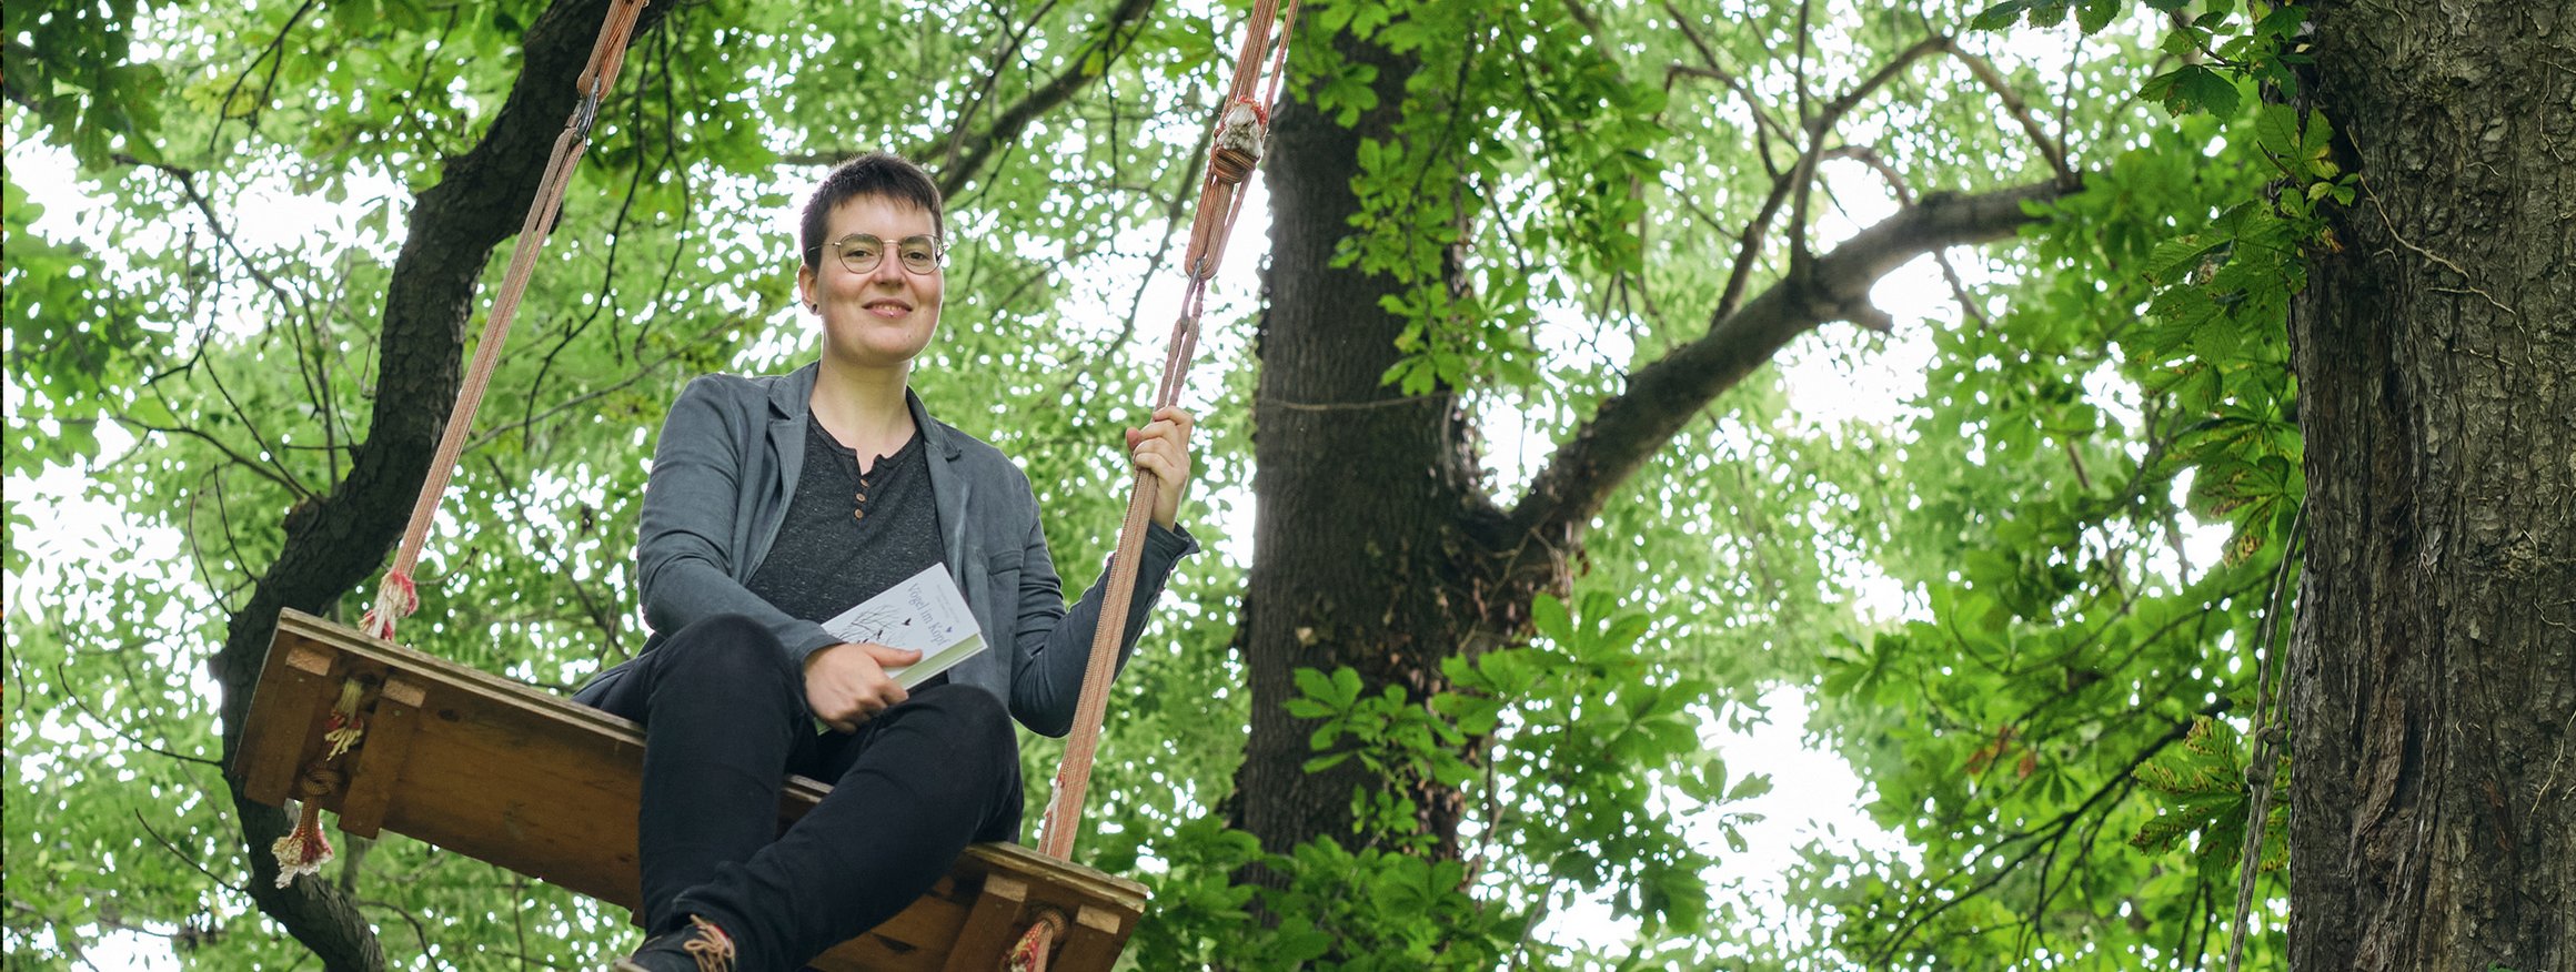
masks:
[[[966,843],[1020,833],[1020,746],[984,689],[922,689],[811,769],[822,805],[675,903],[724,926],[742,969],[793,969],[912,905]]]

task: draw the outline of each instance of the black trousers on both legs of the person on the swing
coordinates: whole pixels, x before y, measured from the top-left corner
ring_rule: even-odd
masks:
[[[817,733],[778,638],[724,615],[574,699],[644,723],[644,928],[714,921],[747,972],[796,969],[912,905],[966,843],[1020,838],[1020,743],[984,689]],[[781,833],[786,774],[832,795]]]

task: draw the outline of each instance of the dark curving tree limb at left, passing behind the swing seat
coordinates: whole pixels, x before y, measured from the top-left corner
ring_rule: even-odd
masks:
[[[670,5],[647,8],[639,31],[654,28],[667,10]],[[381,383],[368,440],[330,496],[289,512],[286,545],[250,602],[229,617],[224,648],[214,656],[214,676],[224,692],[224,764],[240,748],[250,687],[268,656],[278,609],[325,612],[374,573],[402,535],[456,401],[477,278],[536,198],[554,136],[577,100],[572,80],[605,15],[608,0],[556,0],[546,8],[528,28],[526,67],[492,129],[471,152],[448,162],[438,185],[420,193],[386,283],[376,345]],[[314,949],[327,969],[381,969],[384,949],[345,892],[317,879],[276,887],[268,843],[291,825],[286,810],[250,802],[240,795],[240,779],[227,777],[227,784],[250,846],[250,892],[260,910]]]

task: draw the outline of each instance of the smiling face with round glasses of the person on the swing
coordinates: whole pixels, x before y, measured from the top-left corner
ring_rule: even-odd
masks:
[[[822,350],[858,368],[896,368],[909,363],[940,324],[943,270],[904,267],[904,242],[935,237],[938,221],[909,203],[884,195],[853,195],[832,208],[824,224],[822,255],[796,273],[796,293],[822,316]],[[842,242],[876,237],[878,260],[853,273]]]

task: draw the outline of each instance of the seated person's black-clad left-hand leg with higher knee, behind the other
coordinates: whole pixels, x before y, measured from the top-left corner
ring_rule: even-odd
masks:
[[[598,707],[644,723],[644,928],[672,931],[698,913],[732,931],[739,915],[680,897],[778,838],[788,759],[814,741],[801,674],[768,627],[724,615],[639,658]]]

